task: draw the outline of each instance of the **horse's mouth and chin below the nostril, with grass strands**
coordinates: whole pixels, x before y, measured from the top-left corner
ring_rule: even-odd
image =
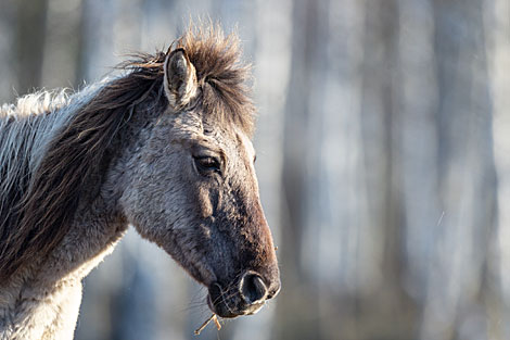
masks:
[[[207,294],[207,305],[211,311],[224,318],[234,318],[242,315],[253,315],[260,311],[265,302],[246,303],[238,292],[224,290],[220,285],[213,284]]]

